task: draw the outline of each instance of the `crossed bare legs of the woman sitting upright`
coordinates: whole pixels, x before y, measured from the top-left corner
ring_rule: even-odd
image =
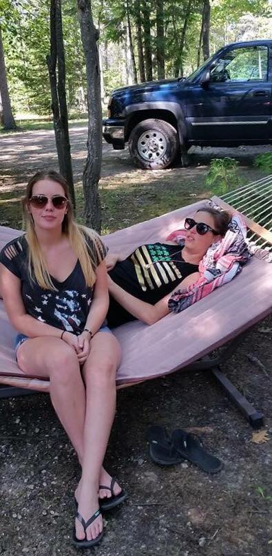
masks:
[[[98,509],[98,484],[106,473],[102,463],[114,419],[116,368],[120,357],[118,341],[109,332],[98,332],[92,339],[90,355],[83,365],[83,378],[76,353],[58,338],[28,339],[17,352],[23,372],[50,378],[52,404],[82,468],[76,498],[85,521]],[[100,515],[87,528],[87,539],[96,538],[102,528]],[[78,520],[76,537],[85,538]]]

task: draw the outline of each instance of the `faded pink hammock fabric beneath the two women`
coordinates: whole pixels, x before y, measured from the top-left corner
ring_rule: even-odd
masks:
[[[104,238],[124,257],[144,244],[163,242],[182,220],[207,201],[179,208]],[[0,248],[20,232],[0,226]],[[186,311],[171,313],[152,326],[134,321],[114,330],[122,347],[118,386],[180,370],[260,321],[271,312],[272,265],[251,257],[238,277]],[[0,300],[0,383],[48,392],[49,381],[23,374],[14,356],[16,332]]]

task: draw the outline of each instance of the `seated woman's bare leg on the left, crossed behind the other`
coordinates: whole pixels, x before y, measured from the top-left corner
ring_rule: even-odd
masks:
[[[85,387],[73,348],[54,336],[28,339],[18,349],[20,369],[50,378],[50,396],[79,462],[83,461]]]

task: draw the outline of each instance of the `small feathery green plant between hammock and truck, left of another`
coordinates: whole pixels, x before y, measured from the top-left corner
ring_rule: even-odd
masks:
[[[239,183],[238,161],[225,156],[224,158],[213,158],[206,178],[206,185],[213,189],[217,195],[222,195],[235,189]]]

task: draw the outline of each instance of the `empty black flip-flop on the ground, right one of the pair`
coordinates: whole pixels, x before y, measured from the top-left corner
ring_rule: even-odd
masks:
[[[222,462],[207,452],[196,436],[176,429],[171,434],[171,442],[182,458],[198,465],[202,471],[218,473],[222,469]]]

